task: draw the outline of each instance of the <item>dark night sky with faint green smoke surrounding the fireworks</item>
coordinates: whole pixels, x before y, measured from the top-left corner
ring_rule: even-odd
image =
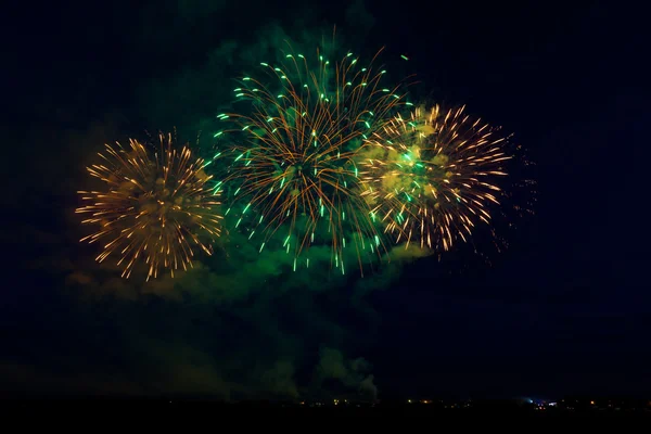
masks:
[[[598,1],[508,3],[11,11],[0,391],[227,399],[650,391],[643,14]],[[460,248],[336,282],[288,273],[273,257],[235,271],[200,258],[193,275],[148,284],[94,263],[74,209],[104,143],[175,127],[191,143],[208,137],[247,65],[285,37],[311,47],[335,25],[344,47],[368,56],[386,47],[392,74],[417,74],[420,95],[467,104],[527,150],[535,215],[506,234],[505,253],[489,253],[488,265]]]

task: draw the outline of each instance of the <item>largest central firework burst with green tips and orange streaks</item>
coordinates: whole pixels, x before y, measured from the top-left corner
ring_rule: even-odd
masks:
[[[260,252],[278,234],[294,270],[298,261],[309,267],[309,255],[299,256],[314,244],[331,246],[342,273],[344,250],[361,267],[362,253],[376,255],[382,241],[359,195],[357,155],[409,103],[399,86],[381,85],[385,71],[360,65],[352,53],[331,64],[318,50],[311,59],[290,52],[280,64],[261,66],[266,78],[244,77],[234,90],[252,103],[252,114],[219,116],[245,135],[231,150],[225,180],[241,204],[235,227],[260,237]]]

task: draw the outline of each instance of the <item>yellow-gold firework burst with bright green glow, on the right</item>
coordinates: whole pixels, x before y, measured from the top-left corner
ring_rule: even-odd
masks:
[[[507,176],[507,138],[471,119],[464,107],[414,110],[396,116],[370,140],[363,195],[395,242],[448,251],[489,224]]]

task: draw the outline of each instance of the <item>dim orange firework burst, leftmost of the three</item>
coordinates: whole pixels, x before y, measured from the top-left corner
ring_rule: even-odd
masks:
[[[90,204],[77,213],[91,217],[82,224],[99,225],[95,233],[80,241],[104,241],[97,257],[119,256],[117,265],[128,278],[138,263],[149,266],[146,280],[156,278],[161,268],[174,270],[192,266],[194,248],[212,254],[209,244],[220,233],[217,194],[203,171],[201,158],[193,158],[184,145],[173,148],[171,135],[159,135],[159,149],[148,152],[137,140],[129,148],[106,144],[107,155],[99,154],[104,164],[88,167],[91,176],[106,183],[105,191],[79,191]]]

